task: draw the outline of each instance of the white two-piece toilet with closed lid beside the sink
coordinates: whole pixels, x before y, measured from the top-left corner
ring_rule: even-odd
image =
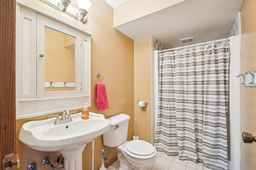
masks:
[[[110,129],[103,134],[105,146],[116,147],[120,170],[150,170],[156,160],[156,148],[142,140],[127,140],[130,116],[122,113],[109,117]]]

